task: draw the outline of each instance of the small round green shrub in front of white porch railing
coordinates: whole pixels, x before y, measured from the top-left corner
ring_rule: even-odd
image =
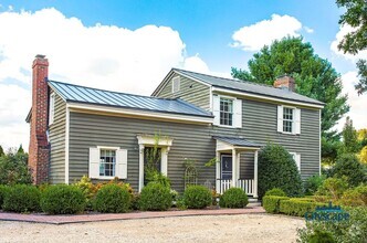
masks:
[[[249,204],[248,196],[240,188],[228,189],[219,200],[221,208],[241,209],[247,204]]]

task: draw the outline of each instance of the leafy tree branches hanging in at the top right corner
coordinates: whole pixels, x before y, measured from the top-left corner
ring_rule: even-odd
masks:
[[[339,24],[348,24],[353,30],[344,35],[338,49],[344,53],[358,54],[367,50],[367,1],[366,0],[336,0],[338,8],[346,8],[340,15]],[[367,91],[367,61],[357,62],[359,83],[355,86],[358,94]]]

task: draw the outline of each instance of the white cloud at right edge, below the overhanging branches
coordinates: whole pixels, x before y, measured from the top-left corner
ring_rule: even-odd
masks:
[[[367,95],[358,96],[354,87],[354,85],[358,83],[357,72],[354,71],[343,74],[342,82],[343,93],[348,94],[348,104],[350,105],[350,110],[346,116],[349,116],[353,119],[353,125],[356,129],[367,128]],[[336,126],[338,130],[343,129],[345,117],[340,119]]]

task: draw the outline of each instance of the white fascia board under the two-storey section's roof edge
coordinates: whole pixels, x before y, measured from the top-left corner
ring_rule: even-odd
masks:
[[[274,98],[274,97],[269,97],[265,95],[256,95],[256,94],[250,94],[247,92],[237,92],[237,91],[230,91],[227,88],[221,88],[221,87],[212,87],[213,92],[220,92],[220,93],[227,93],[231,95],[237,95],[237,96],[245,96],[245,97],[253,97],[253,98],[259,98],[259,99],[264,99],[264,101],[271,101],[271,102],[276,102],[276,103],[284,103],[284,104],[290,104],[290,105],[301,105],[305,107],[313,107],[313,108],[324,108],[323,105],[316,105],[316,104],[310,104],[310,103],[304,103],[304,102],[295,102],[295,101],[289,101],[284,98]]]

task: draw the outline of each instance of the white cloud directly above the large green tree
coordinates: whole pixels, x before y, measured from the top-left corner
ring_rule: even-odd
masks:
[[[232,46],[244,51],[259,51],[274,40],[284,36],[300,36],[302,23],[290,15],[272,14],[271,20],[263,20],[250,27],[243,27],[232,35]]]

